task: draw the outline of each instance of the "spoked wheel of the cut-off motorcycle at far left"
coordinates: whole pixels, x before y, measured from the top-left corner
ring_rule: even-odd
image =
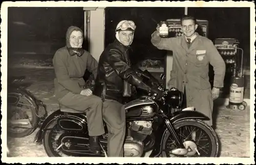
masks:
[[[7,134],[25,137],[31,134],[37,122],[36,106],[20,93],[8,93]]]

